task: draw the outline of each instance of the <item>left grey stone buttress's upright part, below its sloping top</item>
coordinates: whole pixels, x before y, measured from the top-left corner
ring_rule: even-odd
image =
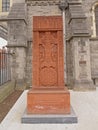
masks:
[[[26,25],[23,20],[8,21],[8,49],[11,54],[11,80],[17,89],[26,87]]]

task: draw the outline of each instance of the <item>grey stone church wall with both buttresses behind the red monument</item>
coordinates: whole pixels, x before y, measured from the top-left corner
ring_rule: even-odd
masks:
[[[32,85],[33,16],[61,16],[62,11],[59,9],[61,1],[14,1],[8,16],[8,47],[13,53],[12,79],[16,79],[17,86],[24,86],[25,82],[28,86]],[[67,48],[65,82],[72,88],[73,86],[93,88],[92,79],[95,85],[98,84],[98,39],[92,38],[94,33],[92,5],[95,2],[96,0],[68,0],[69,7],[65,16]]]

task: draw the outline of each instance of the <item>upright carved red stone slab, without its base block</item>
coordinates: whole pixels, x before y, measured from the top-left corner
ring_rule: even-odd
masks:
[[[62,18],[35,16],[34,86],[49,88],[64,86]],[[62,66],[62,67],[61,67]]]

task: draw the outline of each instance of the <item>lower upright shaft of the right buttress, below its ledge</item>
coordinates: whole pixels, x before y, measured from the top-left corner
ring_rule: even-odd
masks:
[[[92,90],[90,46],[88,37],[74,37],[73,50],[73,87],[75,90]]]

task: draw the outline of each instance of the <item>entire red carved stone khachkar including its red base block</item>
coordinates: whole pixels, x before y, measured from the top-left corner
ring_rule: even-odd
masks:
[[[64,86],[61,16],[33,17],[33,86],[27,94],[28,114],[70,113]]]

